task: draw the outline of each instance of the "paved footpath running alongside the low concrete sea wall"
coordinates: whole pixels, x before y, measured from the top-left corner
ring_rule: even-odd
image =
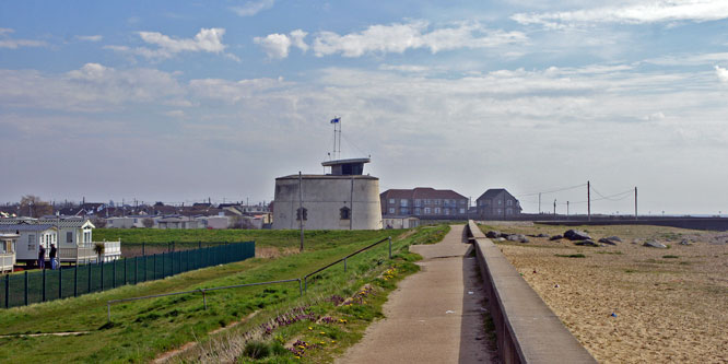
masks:
[[[462,243],[462,225],[434,245],[410,249],[422,270],[399,284],[361,342],[337,363],[490,363],[474,258]]]

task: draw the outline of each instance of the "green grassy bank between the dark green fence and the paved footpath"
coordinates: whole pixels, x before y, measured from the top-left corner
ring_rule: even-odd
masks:
[[[395,251],[398,253],[395,261],[400,266],[398,268],[400,274],[404,274],[415,270],[412,267],[414,265],[408,262],[412,256],[407,253],[407,247],[410,244],[436,242],[444,236],[446,231],[446,227],[441,226],[421,228],[414,234],[412,232],[401,234],[396,231],[307,232],[307,243],[310,245],[307,245],[307,250],[303,254],[270,259],[256,258],[78,298],[3,310],[0,315],[0,334],[3,336],[37,332],[84,333],[67,337],[0,338],[0,362],[21,363],[47,360],[52,362],[146,362],[160,353],[188,342],[212,342],[210,332],[240,321],[254,313],[256,316],[250,325],[257,320],[269,319],[278,315],[281,309],[294,306],[314,307],[310,309],[324,312],[327,309],[326,304],[321,303],[325,297],[349,296],[357,292],[363,284],[377,282],[377,280],[379,280],[378,290],[381,292],[394,287],[390,282],[386,283],[386,281],[377,279],[381,272],[391,268],[390,262],[386,259],[386,244],[351,259],[345,274],[341,267],[317,274],[316,281],[310,283],[304,297],[298,296],[297,283],[209,293],[207,310],[203,309],[202,300],[198,294],[171,296],[115,305],[111,312],[113,322],[106,322],[106,301],[108,300],[300,278],[392,233],[400,233],[400,236],[394,242]],[[151,236],[144,231],[134,233],[141,234],[139,236]],[[243,233],[254,234],[260,240],[267,242],[262,244],[283,249],[297,247],[298,244],[297,239],[293,238],[293,235],[297,237],[297,232],[243,231]],[[265,236],[266,233],[269,233],[270,236]],[[151,234],[157,242],[162,240],[158,233]],[[193,237],[193,239],[199,238],[199,236]],[[95,236],[94,239],[97,240],[98,236]],[[250,239],[250,235],[239,239]],[[377,300],[384,302],[386,296],[379,295]],[[372,302],[375,306],[348,308],[353,313],[352,321],[359,317],[357,309],[362,314],[367,313],[364,315],[365,318],[376,315],[377,300]],[[360,327],[357,328],[356,325]],[[330,345],[331,350],[320,350],[318,354],[310,354],[309,351],[304,360],[318,361],[329,357],[328,353],[337,352],[336,348],[344,348],[355,341],[361,334],[357,332],[362,331],[365,326],[364,322],[350,326],[351,329],[347,330],[351,330],[351,332],[347,336],[342,334],[350,339],[342,340],[341,347]],[[246,325],[236,327],[236,329],[244,328]],[[295,326],[286,327],[281,330],[280,334],[289,332],[293,336],[294,332],[291,330],[294,329]],[[210,353],[219,352],[212,344],[209,348]],[[294,357],[290,352],[282,354],[279,357],[283,361]]]

